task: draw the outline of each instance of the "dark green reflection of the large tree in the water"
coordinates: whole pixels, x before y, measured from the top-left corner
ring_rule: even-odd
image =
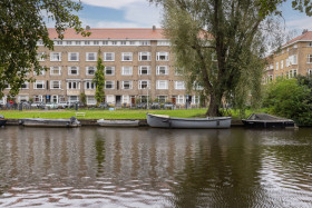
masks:
[[[187,139],[191,143],[191,138]],[[233,129],[228,137],[216,130],[198,140],[194,155],[186,146],[185,167],[175,177],[172,204],[175,207],[254,206],[261,195],[259,146],[250,143],[244,131]]]

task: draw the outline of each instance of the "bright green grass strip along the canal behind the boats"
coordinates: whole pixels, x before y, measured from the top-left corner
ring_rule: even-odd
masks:
[[[0,115],[3,115],[8,119],[20,119],[20,118],[48,118],[48,119],[60,119],[70,118],[76,116],[76,112],[86,112],[85,117],[79,119],[146,119],[146,113],[155,115],[168,115],[170,117],[179,118],[196,118],[205,117],[206,109],[178,109],[178,110],[142,110],[142,109],[117,109],[117,110],[87,110],[79,109],[75,110],[0,110]],[[248,116],[251,110],[246,111]],[[231,111],[233,119],[240,119],[238,111]]]

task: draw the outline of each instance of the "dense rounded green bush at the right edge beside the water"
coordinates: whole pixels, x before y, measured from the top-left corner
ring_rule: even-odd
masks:
[[[298,79],[272,82],[264,99],[269,112],[293,119],[299,125],[312,125],[311,89]]]

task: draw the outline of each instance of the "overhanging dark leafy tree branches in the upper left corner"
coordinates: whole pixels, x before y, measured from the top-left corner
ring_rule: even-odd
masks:
[[[53,49],[46,22],[55,22],[62,38],[66,28],[75,28],[82,36],[79,18],[74,14],[81,9],[80,2],[71,0],[1,0],[0,1],[0,98],[10,85],[10,93],[16,96],[30,70],[39,72],[37,42],[41,40],[48,49]]]

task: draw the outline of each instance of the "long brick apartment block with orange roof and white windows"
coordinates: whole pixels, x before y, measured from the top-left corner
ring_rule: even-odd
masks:
[[[75,102],[85,93],[87,105],[96,105],[92,78],[100,50],[107,102],[134,105],[148,96],[153,100],[182,106],[186,102],[199,103],[195,91],[186,95],[183,77],[173,63],[170,42],[162,29],[88,28],[88,31],[91,36],[82,37],[68,29],[60,40],[55,29],[49,29],[49,36],[55,41],[53,51],[38,42],[39,61],[49,70],[40,75],[30,72],[36,82],[25,83],[16,101]],[[42,55],[47,58],[41,58]],[[2,101],[6,102],[7,98]]]

